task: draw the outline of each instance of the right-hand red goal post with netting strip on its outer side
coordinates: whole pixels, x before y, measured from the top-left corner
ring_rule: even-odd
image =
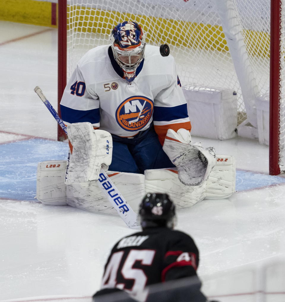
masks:
[[[271,0],[269,174],[285,172],[285,2]]]

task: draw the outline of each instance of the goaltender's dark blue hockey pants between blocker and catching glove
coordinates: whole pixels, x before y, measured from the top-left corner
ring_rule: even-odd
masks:
[[[109,171],[141,173],[148,169],[173,168],[158,140],[154,126],[131,138],[113,135],[113,155]]]

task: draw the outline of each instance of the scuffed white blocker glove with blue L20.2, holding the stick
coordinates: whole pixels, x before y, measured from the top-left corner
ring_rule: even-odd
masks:
[[[94,130],[91,123],[67,126],[72,145],[66,169],[66,184],[97,180],[101,167],[107,171],[112,161],[112,136],[104,130]]]

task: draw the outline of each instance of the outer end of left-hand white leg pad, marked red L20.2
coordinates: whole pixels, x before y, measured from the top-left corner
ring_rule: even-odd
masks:
[[[66,205],[66,160],[39,162],[36,174],[36,198],[43,204]]]

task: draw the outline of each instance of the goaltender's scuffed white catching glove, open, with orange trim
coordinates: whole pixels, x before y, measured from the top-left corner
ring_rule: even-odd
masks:
[[[181,128],[177,133],[168,129],[163,150],[176,165],[178,178],[184,185],[201,185],[216,164],[215,149],[205,149],[201,143],[192,143],[190,132],[186,129]]]

